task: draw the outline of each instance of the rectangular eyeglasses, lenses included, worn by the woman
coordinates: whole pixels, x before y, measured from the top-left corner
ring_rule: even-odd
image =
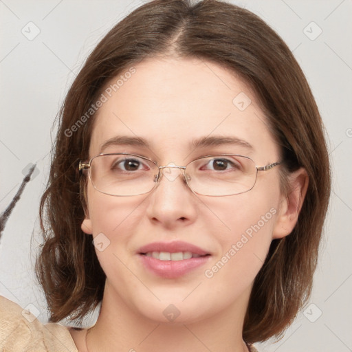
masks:
[[[96,190],[118,197],[144,195],[159,184],[162,175],[174,181],[183,170],[184,182],[192,192],[220,197],[248,192],[256,183],[258,171],[279,164],[256,166],[250,157],[221,154],[199,157],[186,166],[158,166],[141,155],[110,153],[96,155],[88,163],[81,161],[79,170],[89,170],[89,179]]]

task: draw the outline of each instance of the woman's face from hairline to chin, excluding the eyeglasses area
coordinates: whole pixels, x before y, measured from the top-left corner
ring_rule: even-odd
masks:
[[[164,58],[143,61],[130,72],[122,74],[115,91],[107,85],[89,157],[132,153],[159,166],[185,166],[198,157],[219,154],[245,155],[257,166],[279,161],[278,146],[256,97],[223,67]],[[102,148],[117,136],[139,137],[148,146],[110,141]],[[238,141],[220,143],[220,137]],[[212,143],[192,146],[205,138]],[[82,229],[98,236],[96,254],[107,275],[104,299],[159,322],[175,317],[196,322],[220,312],[244,314],[254,278],[276,236],[282,200],[279,167],[260,171],[249,192],[226,197],[193,193],[182,173],[167,177],[175,171],[170,168],[152,192],[132,197],[103,194],[88,181]],[[164,250],[166,261],[141,254],[151,243],[148,251]],[[208,255],[183,263],[168,261],[167,252],[196,254],[190,245]]]

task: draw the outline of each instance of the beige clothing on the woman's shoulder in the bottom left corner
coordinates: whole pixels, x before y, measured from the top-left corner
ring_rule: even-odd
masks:
[[[0,296],[1,351],[78,352],[69,329],[42,324],[30,311]]]

